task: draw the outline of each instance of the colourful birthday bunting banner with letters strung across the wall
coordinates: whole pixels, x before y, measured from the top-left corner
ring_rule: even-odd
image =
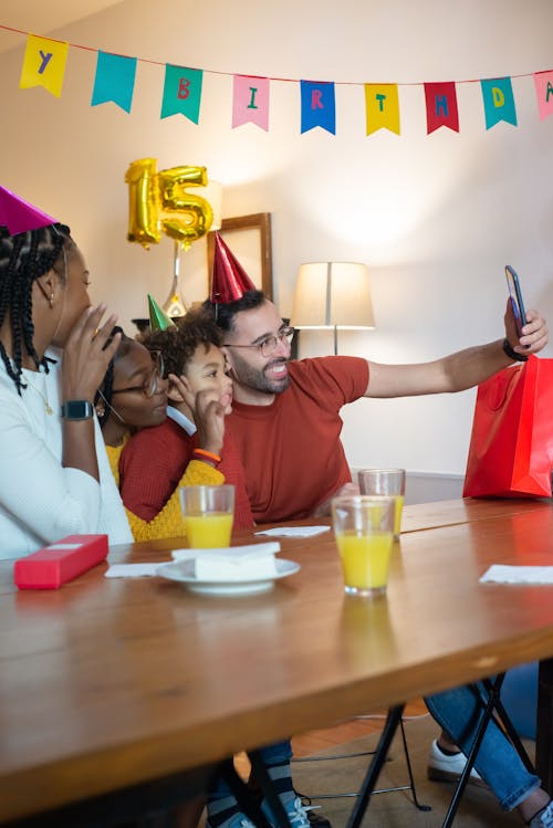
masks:
[[[27,34],[27,48],[21,67],[19,86],[22,90],[43,86],[52,95],[62,94],[63,78],[70,46],[96,52],[96,72],[93,82],[91,106],[114,103],[124,112],[131,113],[135,76],[139,57],[111,54],[75,43],[65,43],[39,38],[11,27],[0,29],[18,34]],[[182,115],[192,124],[200,122],[200,106],[204,75],[226,75],[232,78],[232,122],[236,129],[244,124],[253,124],[269,130],[270,91],[273,83],[292,83],[299,87],[301,133],[321,127],[336,135],[336,86],[359,86],[364,92],[366,135],[380,129],[400,135],[399,86],[397,83],[334,83],[332,81],[304,81],[290,77],[264,77],[212,72],[210,70],[177,66],[170,63],[145,61],[165,67],[165,83],[160,117]],[[538,114],[543,120],[553,112],[553,70],[534,72],[515,77],[534,80]],[[486,77],[480,81],[449,81],[440,83],[420,82],[426,104],[427,135],[440,127],[459,133],[459,109],[457,86],[466,83],[480,83],[486,129],[500,122],[517,126],[517,106],[512,88],[512,77]],[[359,99],[359,106],[363,99]]]

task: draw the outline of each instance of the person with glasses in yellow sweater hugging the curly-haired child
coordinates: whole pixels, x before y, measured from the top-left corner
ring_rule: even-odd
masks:
[[[159,426],[167,417],[167,388],[164,360],[140,343],[125,336],[109,364],[96,395],[96,413],[106,443],[107,457],[117,485],[119,485],[121,453],[133,433],[143,428]],[[205,449],[200,459],[188,463],[179,485],[218,485],[225,483],[223,474],[215,468],[210,454],[212,447],[222,443],[225,412],[217,400],[207,400],[202,416],[207,428]],[[126,509],[135,541],[179,537],[185,534],[178,488],[164,507],[152,520],[145,521]]]

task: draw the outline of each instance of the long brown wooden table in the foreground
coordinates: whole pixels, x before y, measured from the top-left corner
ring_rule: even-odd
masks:
[[[374,602],[344,597],[331,532],[282,539],[301,572],[242,598],[106,579],[105,565],[58,591],[18,593],[1,564],[0,822],[552,658],[553,587],[478,579],[492,563],[553,563],[553,509],[484,506],[403,535]],[[164,560],[170,546],[111,558]],[[550,699],[549,783],[551,719]]]

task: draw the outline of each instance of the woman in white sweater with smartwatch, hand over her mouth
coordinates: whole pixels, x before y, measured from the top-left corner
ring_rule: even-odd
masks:
[[[1,189],[4,200],[31,214],[30,205]],[[106,533],[111,543],[129,542],[93,409],[118,345],[115,337],[104,350],[115,317],[102,325],[105,306],[91,307],[88,271],[67,227],[43,217],[39,229],[10,233],[4,223],[6,210],[0,216],[0,559],[28,555],[69,534]]]

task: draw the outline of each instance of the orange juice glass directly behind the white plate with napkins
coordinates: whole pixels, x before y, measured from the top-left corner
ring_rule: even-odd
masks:
[[[230,546],[234,486],[181,486],[179,496],[190,548]]]

